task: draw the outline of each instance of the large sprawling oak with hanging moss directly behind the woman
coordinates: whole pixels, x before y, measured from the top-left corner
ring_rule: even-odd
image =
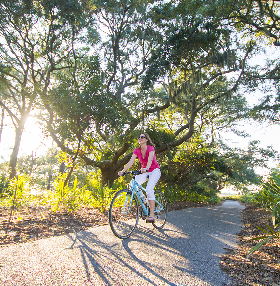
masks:
[[[99,168],[105,183],[118,177],[139,132],[154,131],[158,155],[189,140],[205,110],[230,102],[252,52],[250,44],[232,49],[230,31],[196,17],[197,11],[188,15],[170,6],[164,15],[166,7],[158,7],[149,1],[101,3],[94,28],[103,38],[95,56],[80,61],[77,84],[65,88],[61,81],[50,91],[53,102],[65,103],[58,105],[63,112],[48,108],[50,134],[73,158]],[[152,122],[166,110],[181,120],[161,123],[156,132]]]

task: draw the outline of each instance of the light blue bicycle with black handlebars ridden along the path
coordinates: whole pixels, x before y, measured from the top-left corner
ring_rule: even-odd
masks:
[[[141,205],[141,218],[146,219],[150,214],[149,202],[147,206],[139,194],[139,189],[146,192],[141,185],[136,183],[135,176],[141,174],[141,171],[123,172],[122,175],[133,175],[130,189],[123,189],[114,195],[109,208],[109,222],[113,233],[120,239],[130,237],[136,230],[139,220],[139,205]],[[139,188],[139,189],[138,189]],[[161,191],[155,191],[155,222],[153,226],[156,229],[164,227],[167,219],[167,201]]]

